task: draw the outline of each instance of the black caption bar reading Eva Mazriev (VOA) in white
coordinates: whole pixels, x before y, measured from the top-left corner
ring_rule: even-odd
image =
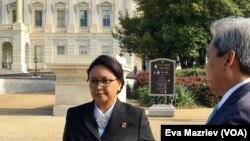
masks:
[[[216,139],[239,138],[249,140],[248,126],[218,125],[161,125],[161,140],[178,137],[210,137]]]

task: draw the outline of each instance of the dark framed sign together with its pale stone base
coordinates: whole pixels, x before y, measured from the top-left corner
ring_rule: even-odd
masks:
[[[175,61],[159,58],[149,61],[149,95],[174,96],[175,93]],[[175,113],[171,104],[153,104],[148,111],[149,116],[173,117]]]

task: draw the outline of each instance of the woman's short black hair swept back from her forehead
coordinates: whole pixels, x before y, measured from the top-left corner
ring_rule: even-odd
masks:
[[[87,70],[88,78],[90,71],[97,65],[103,65],[107,67],[122,83],[121,89],[125,83],[124,76],[123,76],[123,69],[122,65],[113,57],[108,55],[100,55],[98,56],[89,66]]]

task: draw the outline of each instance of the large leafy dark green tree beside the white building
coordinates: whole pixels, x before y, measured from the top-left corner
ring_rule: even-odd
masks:
[[[205,64],[210,24],[228,16],[250,16],[248,0],[134,0],[137,11],[120,13],[113,37],[123,52],[145,60],[169,58],[182,68]]]

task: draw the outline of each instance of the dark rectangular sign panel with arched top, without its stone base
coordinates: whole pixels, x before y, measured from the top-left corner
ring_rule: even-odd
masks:
[[[149,61],[149,95],[173,96],[175,93],[175,60],[159,58]]]

